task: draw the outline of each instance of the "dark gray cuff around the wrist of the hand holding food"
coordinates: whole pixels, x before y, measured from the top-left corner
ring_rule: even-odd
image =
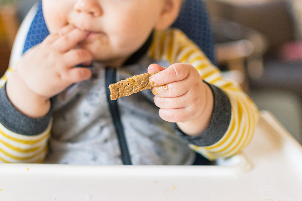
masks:
[[[180,138],[186,140],[189,144],[194,144],[196,146],[210,146],[218,142],[226,133],[231,121],[232,106],[229,97],[217,86],[208,85],[213,92],[214,108],[210,125],[207,130],[199,136],[192,137],[183,133],[176,123],[172,123],[176,134]]]

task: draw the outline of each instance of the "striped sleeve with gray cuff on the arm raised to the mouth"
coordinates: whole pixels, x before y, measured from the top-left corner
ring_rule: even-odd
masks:
[[[41,163],[47,153],[51,116],[32,119],[14,108],[5,90],[13,71],[8,68],[0,79],[0,163]]]

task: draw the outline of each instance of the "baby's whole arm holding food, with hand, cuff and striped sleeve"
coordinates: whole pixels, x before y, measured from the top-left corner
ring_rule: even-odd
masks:
[[[156,32],[149,54],[172,64],[151,77],[159,85],[153,89],[154,101],[163,119],[177,122],[173,123],[177,134],[194,151],[217,159],[234,155],[249,143],[258,122],[258,108],[238,83],[223,78],[184,33],[175,29]],[[150,68],[149,72],[154,72],[159,67]]]

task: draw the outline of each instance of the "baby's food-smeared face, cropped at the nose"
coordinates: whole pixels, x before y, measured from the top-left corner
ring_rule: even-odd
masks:
[[[66,24],[88,31],[78,46],[117,66],[143,45],[164,6],[164,0],[43,0],[43,14],[50,33]]]

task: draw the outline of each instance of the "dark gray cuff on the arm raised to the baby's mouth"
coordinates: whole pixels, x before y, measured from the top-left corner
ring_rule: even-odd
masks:
[[[23,115],[8,99],[6,84],[0,89],[0,122],[8,130],[21,135],[37,135],[46,130],[50,118],[51,112],[36,119]]]

